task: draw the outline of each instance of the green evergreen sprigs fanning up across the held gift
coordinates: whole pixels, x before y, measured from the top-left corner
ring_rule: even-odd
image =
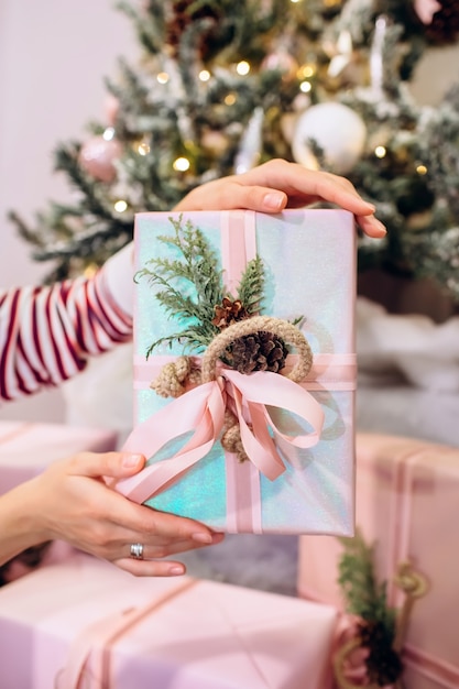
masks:
[[[222,271],[209,247],[203,231],[192,220],[183,223],[171,217],[173,236],[160,236],[159,241],[178,249],[178,259],[151,259],[145,267],[135,274],[135,280],[143,277],[155,286],[156,299],[170,317],[184,325],[184,329],[155,340],[147,349],[146,358],[160,344],[172,346],[183,342],[196,351],[205,349],[219,332],[212,324],[216,305],[225,296]],[[249,314],[260,309],[263,298],[263,264],[260,258],[250,261],[241,276],[238,298]]]

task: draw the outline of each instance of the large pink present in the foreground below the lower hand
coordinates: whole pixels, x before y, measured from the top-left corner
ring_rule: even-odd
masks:
[[[0,590],[1,686],[326,689],[336,610],[79,554]]]

